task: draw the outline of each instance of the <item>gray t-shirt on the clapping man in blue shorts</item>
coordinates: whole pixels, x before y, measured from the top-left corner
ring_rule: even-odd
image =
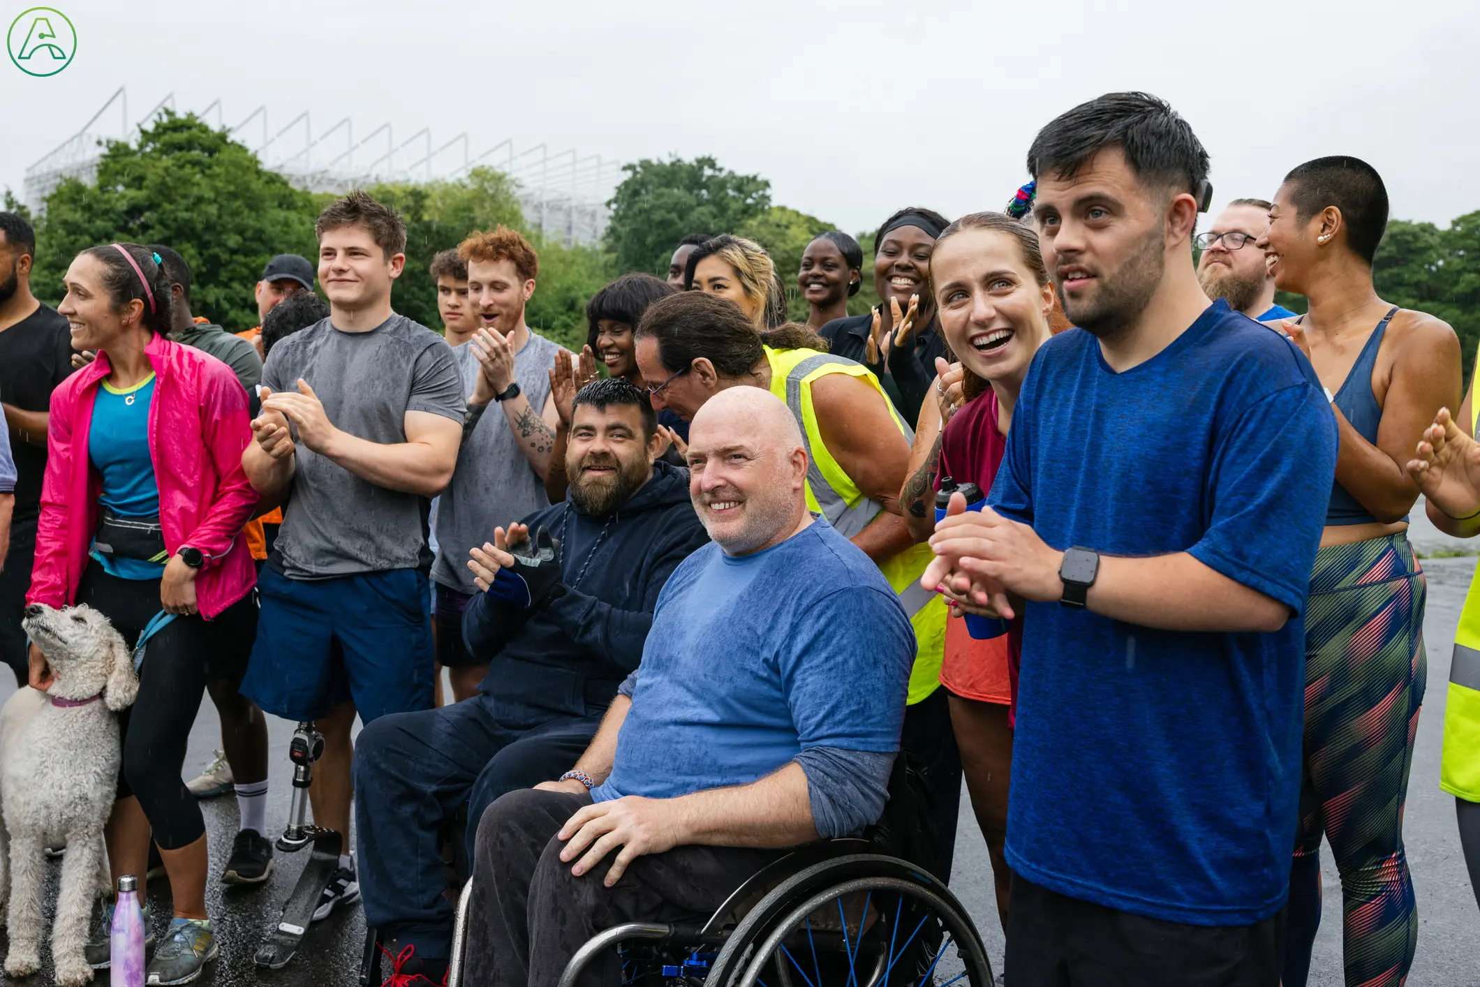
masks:
[[[441,336],[404,315],[369,333],[323,320],[272,348],[262,383],[297,391],[302,377],[334,428],[371,442],[406,441],[406,413],[462,422],[463,382]],[[296,437],[296,429],[295,429]],[[283,574],[326,579],[426,565],[426,497],[377,487],[306,448],[274,546]]]

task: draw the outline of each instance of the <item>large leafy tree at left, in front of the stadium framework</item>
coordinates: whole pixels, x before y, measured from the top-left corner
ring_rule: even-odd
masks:
[[[275,253],[314,256],[314,197],[191,114],[166,110],[136,142],[111,141],[93,183],[64,179],[37,229],[37,294],[56,303],[78,252],[169,244],[191,266],[191,308],[232,331],[258,324],[252,289]]]

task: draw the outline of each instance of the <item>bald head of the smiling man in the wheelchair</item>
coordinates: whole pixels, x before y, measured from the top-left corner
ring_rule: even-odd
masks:
[[[770,391],[727,388],[688,428],[688,494],[725,555],[752,555],[808,524],[807,448]]]

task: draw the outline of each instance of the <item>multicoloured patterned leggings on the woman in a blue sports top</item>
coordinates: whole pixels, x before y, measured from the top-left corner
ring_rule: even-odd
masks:
[[[1285,987],[1320,925],[1320,838],[1341,873],[1347,987],[1403,984],[1418,944],[1403,799],[1424,701],[1424,573],[1403,534],[1320,549],[1305,610],[1305,756]]]

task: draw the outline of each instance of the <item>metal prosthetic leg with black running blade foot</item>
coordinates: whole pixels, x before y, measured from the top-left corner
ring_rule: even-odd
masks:
[[[287,904],[283,906],[277,926],[258,947],[256,965],[268,969],[281,969],[293,959],[303,934],[308,932],[308,923],[314,919],[318,898],[339,869],[339,855],[343,852],[343,833],[306,821],[308,786],[314,780],[314,762],[323,753],[324,735],[314,727],[314,721],[300,722],[289,746],[289,758],[293,761],[293,802],[289,808],[287,829],[278,838],[277,848],[292,854],[312,845],[314,852],[303,864],[303,872]]]

